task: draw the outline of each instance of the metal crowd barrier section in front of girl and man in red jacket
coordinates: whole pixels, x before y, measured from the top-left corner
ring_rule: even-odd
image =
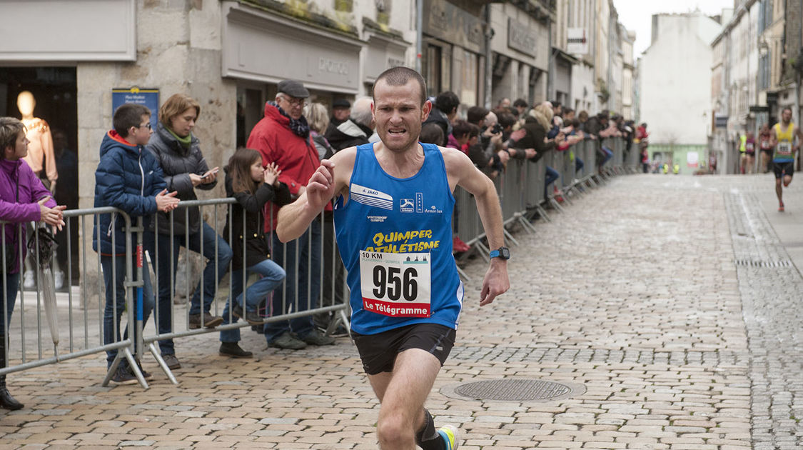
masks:
[[[236,203],[234,198],[214,198],[209,200],[191,200],[191,201],[181,201],[178,204],[178,207],[170,212],[171,218],[174,218],[175,215],[184,215],[185,221],[184,223],[189,223],[189,211],[190,208],[198,207],[200,208],[201,218],[203,219],[205,216],[209,219],[210,222],[213,224],[221,223],[222,219],[228,218],[228,229],[229,235],[224,236],[222,232],[218,232],[219,229],[223,229],[223,227],[215,227],[212,226],[217,234],[226,240],[229,243],[234,243],[234,233],[243,234],[243,248],[247,249],[246,246],[246,235],[245,229],[243,231],[235,231],[233,229],[233,217],[230,214],[231,205]],[[211,211],[209,211],[211,209]],[[207,213],[205,215],[205,212]],[[243,211],[243,215],[245,215],[245,211]],[[269,220],[272,219],[272,215],[269,216]],[[245,219],[243,218],[243,223],[245,223]],[[243,226],[244,227],[244,226]],[[154,220],[153,229],[158,229],[158,221]],[[315,229],[316,231],[312,231]],[[320,230],[320,231],[317,231]],[[153,266],[159,266],[159,259],[169,257],[173,259],[174,255],[171,254],[173,248],[159,248],[158,246],[158,239],[154,235],[154,231],[150,231],[151,235],[153,236],[153,254],[150,255],[150,258],[153,261]],[[334,239],[334,223],[331,219],[331,213],[321,213],[317,219],[312,223],[308,232],[305,235],[302,235],[301,238],[296,239],[294,241],[288,243],[282,243],[281,247],[275,247],[271,241],[273,240],[273,234],[267,233],[267,240],[269,241],[269,246],[271,247],[271,259],[276,260],[277,257],[281,257],[282,260],[285,261],[283,264],[283,268],[287,270],[287,272],[291,272],[290,267],[293,271],[298,271],[299,268],[306,268],[305,272],[307,273],[306,280],[299,280],[299,277],[291,277],[287,276],[281,284],[281,286],[277,287],[274,292],[281,290],[283,293],[282,295],[282,303],[281,303],[281,313],[271,312],[271,301],[273,292],[268,294],[268,297],[265,299],[266,305],[264,309],[260,310],[260,315],[263,317],[263,325],[267,325],[271,322],[277,321],[288,321],[294,319],[296,317],[308,317],[313,316],[316,314],[328,314],[334,313],[332,317],[332,321],[329,322],[328,327],[329,329],[333,329],[336,325],[343,325],[344,327],[349,327],[349,320],[347,317],[347,311],[349,309],[349,294],[348,294],[348,287],[345,283],[345,269],[343,267],[343,263],[340,260],[340,255],[337,253],[336,249],[336,242]],[[316,237],[313,237],[316,235]],[[184,311],[183,317],[181,320],[177,322],[177,309],[173,302],[173,295],[169,297],[169,310],[170,310],[170,321],[171,326],[170,331],[168,333],[159,333],[158,326],[154,326],[157,329],[157,333],[152,335],[145,335],[143,340],[143,345],[147,346],[147,350],[153,355],[153,358],[157,360],[161,369],[167,374],[168,378],[174,384],[177,383],[173,373],[167,365],[165,364],[164,359],[161,356],[161,351],[158,349],[157,342],[166,339],[177,339],[181,337],[188,337],[194,336],[197,334],[203,333],[220,333],[222,331],[230,330],[230,329],[239,329],[245,327],[251,327],[247,321],[241,320],[238,321],[237,317],[234,317],[234,313],[232,311],[233,308],[228,309],[228,314],[224,317],[229,322],[226,325],[218,325],[214,328],[205,328],[203,324],[201,324],[200,328],[198,329],[190,329],[190,298],[194,295],[194,292],[191,291],[190,283],[193,284],[193,287],[197,284],[201,290],[199,292],[199,304],[201,305],[201,314],[203,318],[203,307],[205,300],[204,284],[207,280],[204,279],[204,271],[203,268],[199,268],[198,272],[200,273],[200,277],[198,280],[192,276],[191,273],[191,266],[193,264],[188,261],[191,257],[191,251],[187,251],[191,245],[195,245],[195,248],[198,249],[198,254],[203,255],[204,252],[204,243],[202,239],[202,233],[198,233],[198,243],[193,244],[190,241],[190,234],[187,232],[186,228],[184,230],[180,230],[178,233],[173,228],[173,219],[170,222],[170,234],[164,235],[168,239],[172,240],[178,236],[178,239],[181,241],[181,247],[185,248],[185,264],[183,268],[177,268],[173,272],[175,274],[160,274],[157,273],[155,277],[155,281],[153,282],[153,291],[158,292],[159,286],[162,283],[168,283],[170,285],[170,291],[176,291],[176,280],[175,276],[177,275],[178,270],[184,271],[184,294],[186,298],[186,305],[187,308]],[[163,236],[163,237],[164,237]],[[305,239],[306,242],[302,242],[302,239]],[[307,250],[304,250],[306,248]],[[218,255],[218,242],[215,242],[214,254]],[[247,250],[246,250],[247,252]],[[196,253],[196,252],[193,252]],[[314,254],[313,254],[314,253]],[[302,259],[303,254],[306,254],[306,257]],[[293,255],[289,257],[288,255]],[[313,258],[316,258],[317,264],[313,264]],[[201,265],[205,266],[206,264],[201,260]],[[242,267],[245,268],[246,266],[246,256],[243,255]],[[211,260],[210,264],[215,264],[215,272],[217,272],[217,264],[218,260],[215,257],[214,260]],[[226,276],[230,276],[233,272],[233,264],[234,260],[229,263],[229,268],[226,270]],[[282,265],[282,264],[279,264]],[[327,267],[328,270],[327,270]],[[159,272],[159,271],[156,271]],[[249,274],[246,270],[243,270],[243,303],[245,302],[245,296],[247,292],[247,280],[249,278]],[[165,275],[167,275],[168,279],[164,279]],[[300,285],[305,284],[306,289],[305,292],[302,290],[300,292]],[[230,284],[228,286],[222,285],[219,280],[214,280],[214,291],[217,293],[215,296],[216,298],[213,299],[210,313],[214,316],[223,317],[223,309],[226,304],[234,305],[234,298],[231,295],[230,291]],[[313,292],[313,286],[314,291]],[[291,290],[295,292],[292,299],[287,299],[287,291]],[[226,292],[225,294],[225,301],[219,301],[222,298],[222,292]],[[313,295],[316,294],[316,295]],[[153,314],[153,323],[159,323],[159,296],[158,293],[156,295],[157,299],[154,302],[154,314]],[[245,308],[243,307],[243,312]],[[146,386],[145,386],[146,387]]]

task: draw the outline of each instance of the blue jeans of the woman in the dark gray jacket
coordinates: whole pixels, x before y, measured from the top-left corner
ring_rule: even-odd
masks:
[[[159,245],[159,255],[153,259],[154,270],[158,274],[159,284],[159,298],[157,300],[157,312],[159,314],[157,329],[159,334],[166,334],[173,332],[173,289],[170,286],[170,278],[175,280],[176,264],[178,262],[178,251],[186,244],[185,235],[170,235],[157,234],[157,243]],[[201,240],[203,239],[203,256],[209,260],[206,263],[206,268],[203,270],[203,310],[208,313],[212,307],[214,300],[215,284],[226,275],[229,270],[229,262],[231,260],[231,247],[223,240],[206,222],[202,222],[201,231],[190,235],[189,250],[193,252],[201,252]],[[218,252],[215,253],[214,245],[218,243]],[[170,264],[170,249],[173,249],[173,264]],[[217,259],[217,271],[215,271],[215,260]],[[201,313],[201,280],[198,280],[198,285],[195,287],[192,300],[190,301],[190,314]],[[161,354],[175,354],[176,350],[173,346],[173,339],[163,339],[159,341],[159,349]]]

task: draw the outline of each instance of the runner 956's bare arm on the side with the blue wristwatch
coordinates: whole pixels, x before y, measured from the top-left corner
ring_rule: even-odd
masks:
[[[459,150],[445,149],[443,157],[450,184],[455,180],[454,184],[474,195],[489,247],[491,250],[502,247],[504,245],[502,208],[499,206],[499,196],[491,178],[480,172],[466,154]],[[507,277],[507,260],[491,258],[491,265],[485,273],[483,288],[479,294],[479,305],[490,304],[495,297],[507,292],[508,288],[510,280]]]

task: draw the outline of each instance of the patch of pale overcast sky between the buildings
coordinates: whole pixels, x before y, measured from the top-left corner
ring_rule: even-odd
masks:
[[[636,32],[634,59],[650,47],[652,39],[652,14],[687,13],[700,10],[707,15],[722,12],[723,8],[732,8],[733,0],[613,0],[613,6],[619,13],[619,22],[629,31]]]

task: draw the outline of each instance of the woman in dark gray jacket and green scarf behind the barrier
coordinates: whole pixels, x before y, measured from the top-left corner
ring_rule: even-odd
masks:
[[[201,106],[198,101],[185,94],[173,94],[159,108],[159,123],[153,133],[148,149],[156,155],[161,170],[165,173],[165,183],[169,191],[177,191],[181,200],[195,200],[195,189],[210,190],[217,184],[218,168],[210,170],[201,153],[198,137],[192,130]],[[185,210],[188,210],[185,212]],[[157,328],[159,334],[173,330],[172,299],[176,264],[180,247],[200,253],[209,262],[203,271],[203,286],[198,282],[190,301],[190,328],[204,326],[214,328],[223,321],[222,317],[210,313],[214,292],[218,281],[226,274],[231,260],[231,248],[213,227],[201,219],[199,207],[182,208],[171,214],[157,213],[151,222],[155,227],[158,255],[153,262],[157,271]],[[171,231],[172,225],[172,231]],[[217,249],[217,252],[215,252]],[[203,297],[202,297],[203,296]],[[203,298],[203,302],[201,299]],[[203,305],[203,308],[202,308]],[[162,358],[170,369],[181,364],[176,358],[172,339],[159,341]]]

